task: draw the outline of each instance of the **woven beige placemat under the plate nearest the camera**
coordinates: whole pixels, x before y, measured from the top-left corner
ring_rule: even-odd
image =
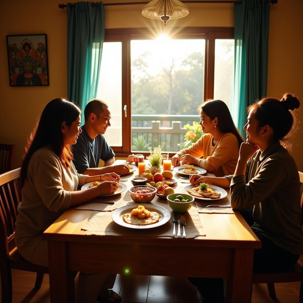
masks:
[[[132,204],[132,203],[133,201],[126,204]],[[145,230],[131,229],[116,224],[112,220],[112,212],[93,211],[90,217],[88,218],[88,221],[83,225],[82,229],[85,230],[86,235],[173,237],[172,236],[172,231],[174,227],[172,221],[173,211],[168,206],[166,200],[162,202],[161,199],[159,199],[158,197],[155,197],[151,205],[152,204],[162,206],[170,212],[171,219],[165,225],[159,226],[157,228],[151,228]],[[193,205],[190,208],[190,210],[187,213],[185,213],[185,219],[186,219],[185,238],[195,238],[199,235],[205,236],[205,231],[201,224],[201,220],[198,214],[198,209],[196,208],[195,205]],[[177,227],[178,225],[176,224],[176,228]],[[181,226],[181,231],[183,231],[182,226]]]

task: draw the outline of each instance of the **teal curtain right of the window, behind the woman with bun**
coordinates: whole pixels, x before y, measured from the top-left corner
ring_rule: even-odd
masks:
[[[242,0],[234,4],[235,76],[232,116],[242,135],[246,108],[266,96],[270,1]],[[245,138],[245,136],[244,136]]]

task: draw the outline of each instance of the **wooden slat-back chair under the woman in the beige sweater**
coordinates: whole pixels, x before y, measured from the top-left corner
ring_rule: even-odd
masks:
[[[0,175],[0,274],[2,301],[12,302],[11,269],[36,272],[35,288],[40,288],[48,267],[26,261],[15,245],[15,221],[17,206],[21,199],[19,183],[21,168]]]

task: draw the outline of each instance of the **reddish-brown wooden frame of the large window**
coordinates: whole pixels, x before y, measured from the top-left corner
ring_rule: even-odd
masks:
[[[167,34],[167,29],[157,28],[108,28],[104,42],[122,42],[122,146],[112,146],[116,157],[127,157],[132,150],[131,124],[131,40],[155,39]],[[214,97],[215,39],[234,39],[233,27],[173,28],[168,33],[172,39],[205,39],[204,96]],[[124,106],[127,106],[125,117]],[[148,155],[149,153],[142,153]],[[174,155],[175,152],[170,152]]]

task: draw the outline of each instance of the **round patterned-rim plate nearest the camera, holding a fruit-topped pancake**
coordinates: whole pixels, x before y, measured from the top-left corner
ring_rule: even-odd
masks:
[[[149,224],[149,225],[134,225],[134,224],[129,224],[123,221],[122,216],[124,214],[127,214],[132,211],[133,208],[137,208],[139,205],[143,205],[147,210],[149,211],[155,211],[160,215],[160,219],[158,222],[154,224]],[[161,225],[164,225],[166,222],[169,221],[170,219],[170,212],[165,209],[164,207],[154,205],[154,204],[128,204],[122,207],[119,207],[116,209],[113,214],[112,214],[112,219],[115,221],[118,225],[128,227],[128,228],[134,228],[134,229],[148,229],[148,228],[155,228]]]

